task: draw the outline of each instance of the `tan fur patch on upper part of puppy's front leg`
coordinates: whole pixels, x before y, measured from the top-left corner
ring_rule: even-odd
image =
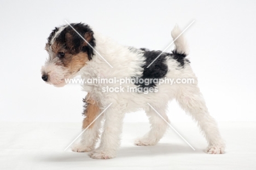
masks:
[[[91,124],[91,122],[94,121],[98,116],[98,114],[100,113],[100,107],[98,107],[98,104],[96,101],[88,97],[86,97],[85,101],[88,103],[88,105],[85,110],[86,113],[84,113],[86,115],[86,118],[84,118],[83,120],[83,129],[88,127]],[[92,128],[93,126],[94,126],[94,123],[91,124],[91,126],[88,128]]]

